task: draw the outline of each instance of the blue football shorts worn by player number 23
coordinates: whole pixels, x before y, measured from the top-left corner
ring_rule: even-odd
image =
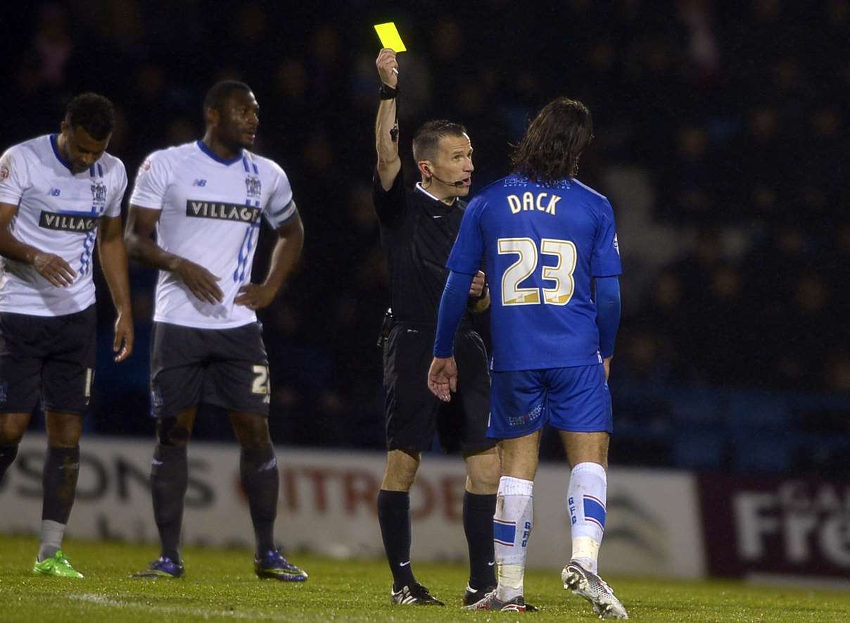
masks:
[[[491,439],[514,439],[549,424],[575,433],[611,433],[611,394],[602,364],[490,372]]]

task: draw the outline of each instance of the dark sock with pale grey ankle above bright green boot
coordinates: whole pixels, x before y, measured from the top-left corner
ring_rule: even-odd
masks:
[[[77,476],[80,473],[80,446],[56,448],[48,445],[42,471],[42,530],[38,559],[50,558],[62,547],[65,524],[71,517]]]

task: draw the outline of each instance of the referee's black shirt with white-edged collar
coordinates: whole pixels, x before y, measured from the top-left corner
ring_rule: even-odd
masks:
[[[381,224],[381,246],[389,264],[390,304],[396,322],[436,326],[451,247],[461,229],[466,201],[451,206],[421,189],[405,189],[401,169],[383,190],[375,172],[372,200]],[[470,327],[468,310],[462,326]]]

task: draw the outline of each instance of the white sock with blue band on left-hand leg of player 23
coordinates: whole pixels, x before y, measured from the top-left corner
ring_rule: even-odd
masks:
[[[508,601],[523,594],[525,552],[531,534],[534,482],[502,476],[493,517],[499,586],[496,597]]]

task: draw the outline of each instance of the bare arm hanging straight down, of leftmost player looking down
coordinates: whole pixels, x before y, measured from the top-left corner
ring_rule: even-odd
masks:
[[[133,311],[130,307],[130,280],[127,276],[127,249],[121,231],[121,217],[104,217],[98,228],[98,257],[106,285],[115,305],[115,338],[112,352],[116,362],[133,353]]]

